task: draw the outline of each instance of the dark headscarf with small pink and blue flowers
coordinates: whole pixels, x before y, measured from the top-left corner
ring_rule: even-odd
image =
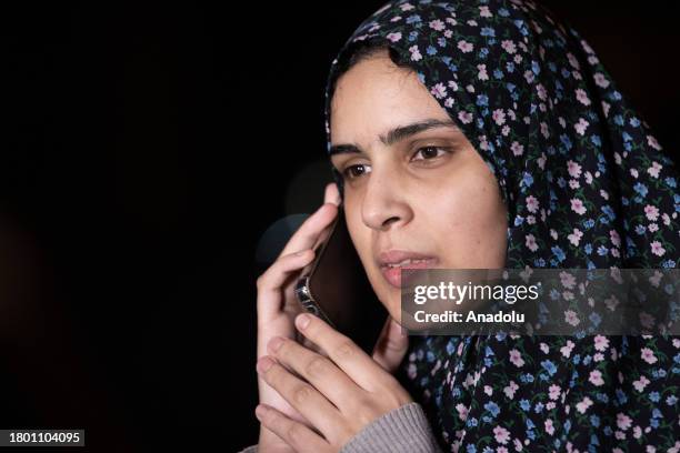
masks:
[[[677,268],[677,169],[576,30],[530,0],[394,1],[338,56],[367,39],[409,62],[496,175],[506,268]],[[404,385],[446,450],[680,451],[680,339],[439,335],[410,348]]]

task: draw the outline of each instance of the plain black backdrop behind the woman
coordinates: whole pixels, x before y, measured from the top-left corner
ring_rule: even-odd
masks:
[[[327,71],[382,3],[1,7],[0,427],[257,442],[256,250],[322,202]],[[543,3],[677,149],[667,3]]]

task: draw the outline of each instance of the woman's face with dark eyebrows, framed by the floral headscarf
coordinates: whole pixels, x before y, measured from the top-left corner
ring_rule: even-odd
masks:
[[[383,273],[381,253],[418,253],[428,268],[504,266],[496,178],[414,72],[387,51],[357,63],[338,80],[330,128],[348,229],[392,318],[401,320],[399,270]]]

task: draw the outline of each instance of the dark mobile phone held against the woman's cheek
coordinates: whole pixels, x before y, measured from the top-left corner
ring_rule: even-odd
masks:
[[[314,253],[297,282],[298,301],[371,355],[388,311],[378,300],[352,243],[342,204],[317,241]]]

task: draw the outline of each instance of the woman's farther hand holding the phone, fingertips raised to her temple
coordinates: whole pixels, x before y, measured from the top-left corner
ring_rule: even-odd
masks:
[[[288,241],[277,260],[258,278],[258,359],[267,355],[267,343],[274,336],[296,339],[293,320],[302,312],[294,285],[300,271],[314,258],[314,246],[323,230],[338,214],[340,193],[334,183],[326,187],[324,204],[310,215]],[[302,415],[276,390],[258,376],[260,403],[304,423]],[[260,427],[260,452],[290,452],[292,449],[267,427]]]

